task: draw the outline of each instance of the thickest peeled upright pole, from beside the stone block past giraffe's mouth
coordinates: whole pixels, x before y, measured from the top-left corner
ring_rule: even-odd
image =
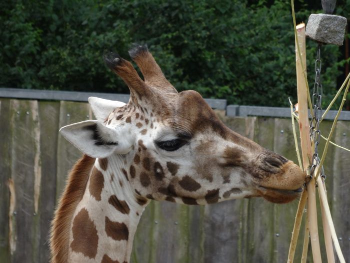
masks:
[[[297,83],[297,98],[299,112],[299,130],[300,144],[302,152],[302,163],[304,170],[310,165],[312,156],[311,141],[309,135],[308,112],[307,112],[307,94],[305,79],[303,76],[306,72],[306,45],[305,45],[305,24],[301,23],[296,26],[295,35],[295,61],[296,61],[296,83]],[[299,58],[301,57],[301,59]],[[311,248],[313,262],[321,262],[321,252],[319,248],[318,227],[317,227],[317,210],[316,210],[316,190],[315,180],[311,180],[307,184],[307,214],[308,226],[310,229]]]

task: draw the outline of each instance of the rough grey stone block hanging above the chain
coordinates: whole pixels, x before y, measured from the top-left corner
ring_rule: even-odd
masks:
[[[308,18],[305,34],[315,41],[341,46],[344,41],[346,23],[344,17],[311,14]]]

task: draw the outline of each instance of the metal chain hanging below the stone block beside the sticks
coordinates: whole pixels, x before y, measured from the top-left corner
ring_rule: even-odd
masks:
[[[313,114],[314,116],[311,119],[310,122],[310,138],[314,143],[314,152],[312,155],[311,160],[311,167],[310,167],[310,176],[314,176],[315,169],[317,165],[320,163],[320,159],[318,156],[318,144],[321,138],[321,132],[319,130],[319,123],[320,119],[322,117],[322,108],[321,108],[321,102],[322,102],[322,84],[320,83],[321,78],[321,44],[317,45],[317,53],[316,53],[316,60],[315,60],[315,82],[313,84],[313,94],[312,94],[312,106],[313,106]],[[325,174],[323,170],[323,166],[321,167],[320,175],[322,177],[322,180],[325,179]]]

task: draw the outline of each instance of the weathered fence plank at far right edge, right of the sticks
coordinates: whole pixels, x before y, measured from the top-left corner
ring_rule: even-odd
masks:
[[[350,124],[338,121],[334,142],[337,145],[350,148]],[[333,166],[333,205],[331,209],[335,231],[339,245],[345,257],[350,259],[350,153],[340,148],[334,150]]]

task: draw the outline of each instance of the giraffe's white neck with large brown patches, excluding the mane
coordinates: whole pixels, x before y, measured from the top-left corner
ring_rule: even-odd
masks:
[[[129,262],[147,204],[131,188],[121,155],[96,159],[69,234],[71,262]]]

